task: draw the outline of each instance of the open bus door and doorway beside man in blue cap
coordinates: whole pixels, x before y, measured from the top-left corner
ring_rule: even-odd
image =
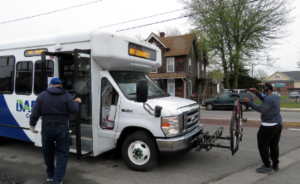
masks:
[[[70,114],[70,151],[76,152],[77,159],[82,159],[93,153],[92,136],[92,103],[91,103],[91,57],[90,50],[78,50],[73,52],[43,52],[42,53],[42,78],[43,89],[48,87],[46,76],[46,57],[55,58],[58,71],[54,77],[59,77],[65,88],[74,98],[79,97],[79,112]]]

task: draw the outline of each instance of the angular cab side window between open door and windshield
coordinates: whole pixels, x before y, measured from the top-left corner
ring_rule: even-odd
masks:
[[[119,94],[111,83],[103,78],[101,80],[101,107],[100,127],[102,129],[113,129],[114,121],[109,120],[109,115],[116,110]],[[112,112],[111,112],[112,111]],[[115,114],[114,114],[115,115]]]

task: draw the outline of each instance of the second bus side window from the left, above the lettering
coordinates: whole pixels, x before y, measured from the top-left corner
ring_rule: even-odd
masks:
[[[30,95],[32,92],[32,62],[22,61],[17,63],[16,94]]]

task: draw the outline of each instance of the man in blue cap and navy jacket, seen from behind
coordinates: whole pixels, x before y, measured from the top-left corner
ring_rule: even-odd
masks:
[[[30,115],[30,130],[34,129],[39,117],[42,116],[42,146],[45,165],[47,166],[47,181],[54,184],[62,183],[69,157],[69,114],[79,111],[80,98],[74,98],[62,88],[58,78],[50,81],[50,87],[36,99]],[[56,167],[54,153],[57,154]]]

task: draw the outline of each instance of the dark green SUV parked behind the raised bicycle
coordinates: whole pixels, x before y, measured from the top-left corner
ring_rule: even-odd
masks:
[[[230,98],[232,92],[225,91],[224,93],[217,96],[217,98],[211,98],[203,100],[202,107],[206,107],[207,110],[213,110],[214,108],[233,108],[234,107],[234,98]],[[242,110],[246,111],[248,105],[243,103],[243,98],[247,97],[250,101],[254,102],[254,96],[250,92],[240,92],[240,103]]]

